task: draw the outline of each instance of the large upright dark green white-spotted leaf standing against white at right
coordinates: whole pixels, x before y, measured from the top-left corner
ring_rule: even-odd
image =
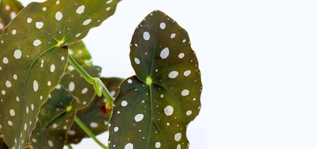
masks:
[[[187,32],[154,11],[130,46],[136,76],[123,81],[113,103],[109,148],[188,148],[186,127],[199,114],[202,82]]]

